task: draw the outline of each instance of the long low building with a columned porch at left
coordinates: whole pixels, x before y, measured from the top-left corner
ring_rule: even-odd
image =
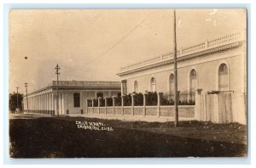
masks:
[[[52,81],[48,87],[28,93],[28,100],[25,95],[23,108],[25,112],[40,114],[83,114],[86,98],[119,96],[120,86],[119,81],[58,81],[58,85]]]

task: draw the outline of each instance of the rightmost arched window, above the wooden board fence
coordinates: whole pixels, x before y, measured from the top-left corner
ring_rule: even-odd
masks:
[[[218,90],[229,90],[229,70],[226,64],[220,64],[218,67]]]

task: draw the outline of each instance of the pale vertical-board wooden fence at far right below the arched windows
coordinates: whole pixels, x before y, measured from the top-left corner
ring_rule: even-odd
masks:
[[[215,123],[247,124],[245,93],[215,92],[196,95],[195,119]]]

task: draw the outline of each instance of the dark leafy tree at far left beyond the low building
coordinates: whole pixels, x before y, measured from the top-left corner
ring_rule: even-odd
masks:
[[[18,93],[18,108],[22,110],[23,94]],[[17,108],[17,92],[9,93],[9,110],[14,113]]]

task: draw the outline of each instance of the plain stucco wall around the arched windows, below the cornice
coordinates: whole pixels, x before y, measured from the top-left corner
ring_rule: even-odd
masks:
[[[177,64],[177,89],[181,92],[189,91],[189,73],[195,69],[197,73],[197,88],[202,92],[218,90],[218,67],[225,63],[229,67],[230,91],[244,92],[244,53],[241,49],[234,49],[225,53],[207,54],[198,59],[189,59]],[[168,93],[169,76],[173,73],[173,65],[161,65],[149,70],[141,70],[129,75],[121,76],[127,80],[127,91],[134,91],[134,81],[137,81],[138,92],[150,91],[150,79],[156,80],[156,91]]]

